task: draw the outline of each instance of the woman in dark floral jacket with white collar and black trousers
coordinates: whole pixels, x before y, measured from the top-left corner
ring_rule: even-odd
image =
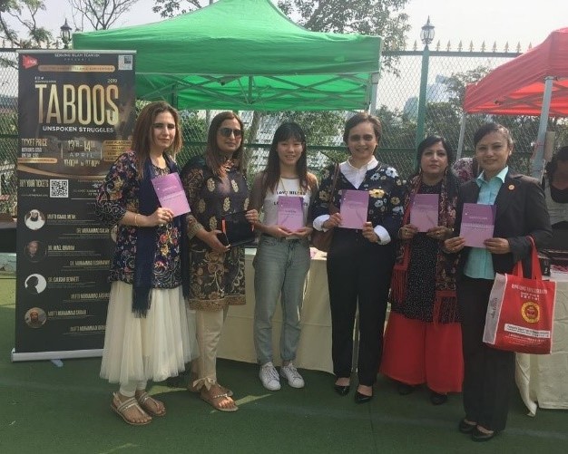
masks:
[[[377,382],[395,262],[394,240],[404,211],[402,179],[396,169],[375,158],[381,132],[380,121],[368,113],[357,113],[347,121],[343,140],[348,146],[348,159],[338,164],[335,190],[336,166],[324,169],[313,203],[313,227],[335,230],[327,267],[335,391],[342,396],[350,388],[353,325],[358,307],[357,403],[371,401]],[[361,222],[359,228],[341,227],[341,215],[333,209],[340,208],[347,189],[368,194],[367,222]]]

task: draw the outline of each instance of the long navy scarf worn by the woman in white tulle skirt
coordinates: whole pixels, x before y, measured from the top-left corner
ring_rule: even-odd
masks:
[[[164,154],[166,164],[170,169],[170,173],[178,172],[178,166]],[[160,202],[156,196],[156,191],[152,186],[152,178],[156,176],[152,166],[152,159],[146,159],[144,162],[144,178],[140,181],[139,192],[139,211],[141,215],[150,216],[157,208]],[[177,227],[180,235],[180,254],[181,254],[181,285],[183,296],[190,293],[189,285],[189,247],[187,245],[187,223],[185,215],[174,217],[174,227]],[[134,261],[134,283],[132,285],[132,312],[139,317],[145,317],[150,309],[151,290],[152,290],[152,273],[154,266],[154,258],[158,248],[157,240],[158,227],[138,227],[136,238],[136,259]]]

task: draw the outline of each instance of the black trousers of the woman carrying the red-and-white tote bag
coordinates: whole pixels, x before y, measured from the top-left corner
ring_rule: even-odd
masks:
[[[514,388],[514,353],[483,343],[493,281],[463,277],[457,284],[464,348],[465,418],[489,430],[504,430]]]

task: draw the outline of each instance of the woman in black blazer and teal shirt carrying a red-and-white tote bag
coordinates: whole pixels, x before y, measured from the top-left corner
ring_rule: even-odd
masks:
[[[475,132],[475,159],[481,173],[460,188],[455,216],[455,237],[446,239],[447,253],[460,253],[457,304],[464,349],[465,418],[458,429],[472,440],[491,440],[504,430],[511,389],[514,387],[514,353],[483,343],[485,314],[495,273],[510,273],[523,260],[524,275],[531,275],[531,241],[544,246],[552,229],[544,192],[536,179],[509,169],[513,152],[509,130],[487,123]],[[459,236],[464,203],[495,205],[494,237],[485,248],[465,247]]]

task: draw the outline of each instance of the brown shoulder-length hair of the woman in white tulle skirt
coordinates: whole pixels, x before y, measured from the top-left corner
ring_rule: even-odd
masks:
[[[171,148],[166,150],[172,157],[181,150],[181,130],[180,130],[180,115],[170,104],[164,101],[155,101],[145,105],[142,111],[138,114],[136,124],[134,125],[134,132],[132,134],[132,150],[136,153],[136,170],[138,171],[139,179],[143,179],[143,169],[146,159],[150,159],[150,149],[152,147],[153,138],[153,124],[156,117],[162,112],[168,111],[175,121],[175,137]]]

